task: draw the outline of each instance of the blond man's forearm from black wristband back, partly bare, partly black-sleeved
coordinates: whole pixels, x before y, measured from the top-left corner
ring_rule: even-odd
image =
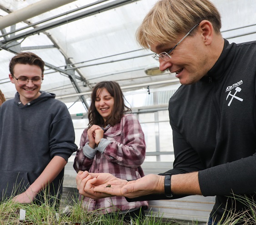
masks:
[[[172,175],[171,191],[176,195],[204,196],[254,193],[256,190],[255,161],[256,154],[200,172]]]

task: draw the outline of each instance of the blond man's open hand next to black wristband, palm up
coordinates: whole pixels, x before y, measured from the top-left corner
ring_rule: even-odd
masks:
[[[111,183],[110,183],[111,184]],[[135,181],[113,183],[111,187],[103,185],[96,186],[95,192],[105,193],[113,196],[125,196],[135,198],[149,194],[164,193],[164,176],[149,174]]]

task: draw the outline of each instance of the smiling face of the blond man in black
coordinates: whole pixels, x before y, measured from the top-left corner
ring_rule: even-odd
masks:
[[[201,22],[199,29],[194,31],[194,35],[187,36],[170,54],[171,58],[164,61],[159,58],[159,69],[161,71],[169,70],[176,73],[180,83],[188,85],[199,81],[211,69],[216,60],[216,56],[211,54],[211,38],[209,23],[207,25]],[[178,43],[185,34],[181,34],[177,39],[168,44],[151,44],[151,50],[155,53],[169,52],[176,43]],[[215,61],[216,62],[216,61]]]

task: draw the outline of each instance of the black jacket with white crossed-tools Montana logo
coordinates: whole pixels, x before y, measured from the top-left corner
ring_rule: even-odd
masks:
[[[202,194],[216,196],[216,221],[225,208],[246,210],[234,197],[251,199],[256,192],[256,41],[225,40],[207,76],[171,97],[169,116],[175,161],[168,173],[199,171]]]

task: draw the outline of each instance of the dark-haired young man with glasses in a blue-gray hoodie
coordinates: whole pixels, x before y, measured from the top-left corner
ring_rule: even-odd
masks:
[[[21,203],[48,199],[58,205],[65,164],[77,150],[67,107],[40,91],[44,66],[30,52],[10,60],[17,93],[0,107],[0,201],[14,196]]]

